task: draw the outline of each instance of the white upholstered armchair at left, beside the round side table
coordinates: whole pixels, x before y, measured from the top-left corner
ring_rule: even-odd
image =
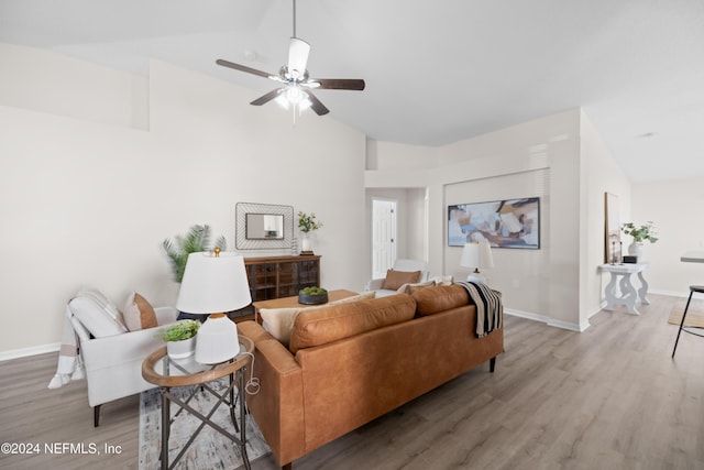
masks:
[[[157,307],[154,313],[158,326],[96,338],[77,314],[78,309],[84,309],[81,314],[85,315],[87,306],[95,309],[96,304],[91,305],[86,297],[77,296],[68,303],[67,315],[78,337],[77,346],[88,383],[88,403],[94,407],[94,426],[98,426],[100,406],[103,403],[154,386],[142,379],[142,362],[164,345],[156,335],[176,321],[178,310],[174,307]],[[95,313],[102,315],[103,326],[107,317],[105,314],[105,310]]]

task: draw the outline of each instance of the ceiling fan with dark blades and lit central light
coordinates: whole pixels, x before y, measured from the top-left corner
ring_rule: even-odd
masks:
[[[363,90],[364,80],[348,78],[310,78],[306,65],[308,64],[308,54],[310,45],[301,39],[296,37],[296,0],[294,1],[294,35],[288,46],[288,65],[282,66],[278,75],[268,74],[257,70],[245,65],[235,64],[219,58],[216,64],[223,67],[234,68],[235,70],[248,74],[258,75],[260,77],[283,84],[282,87],[275,88],[266,95],[255,99],[250,105],[262,106],[275,98],[283,98],[285,101],[298,106],[300,109],[310,107],[318,114],[327,114],[330,112],[328,108],[312,94],[314,89],[330,90]]]

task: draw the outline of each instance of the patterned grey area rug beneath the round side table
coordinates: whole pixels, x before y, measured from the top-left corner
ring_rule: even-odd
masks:
[[[226,390],[227,378],[211,382],[211,386]],[[190,387],[173,389],[174,394],[188,395]],[[198,391],[189,405],[199,413],[207,415],[218,398],[207,391]],[[238,401],[239,406],[239,401]],[[178,406],[172,404],[172,416],[176,414]],[[235,412],[239,416],[239,408]],[[161,420],[162,420],[162,397],[158,389],[142,392],[140,401],[140,469],[153,470],[160,468],[161,452]],[[224,429],[234,433],[230,412],[227,405],[220,405],[212,416],[212,420]],[[188,441],[191,434],[200,425],[200,420],[186,412],[182,412],[172,423],[170,438],[168,439],[168,461],[169,464],[180,452],[183,446]],[[248,417],[246,420],[246,452],[250,461],[271,452],[256,423]],[[186,453],[180,458],[177,469],[237,469],[243,464],[240,448],[222,436],[210,426],[204,427],[198,437],[190,445]]]

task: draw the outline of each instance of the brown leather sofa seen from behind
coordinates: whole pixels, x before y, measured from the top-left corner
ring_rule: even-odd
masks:
[[[261,390],[248,406],[278,463],[340,436],[491,361],[504,331],[475,334],[476,306],[459,285],[302,311],[289,348],[254,321]]]

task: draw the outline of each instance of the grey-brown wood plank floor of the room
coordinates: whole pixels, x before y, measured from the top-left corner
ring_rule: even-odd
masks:
[[[703,469],[704,339],[601,311],[583,334],[506,316],[506,352],[294,462],[294,469]],[[0,362],[0,442],[96,442],[119,455],[0,455],[0,468],[138,468],[139,398],[92,427],[85,383],[47,390],[56,354]],[[264,457],[254,470],[275,469]]]

